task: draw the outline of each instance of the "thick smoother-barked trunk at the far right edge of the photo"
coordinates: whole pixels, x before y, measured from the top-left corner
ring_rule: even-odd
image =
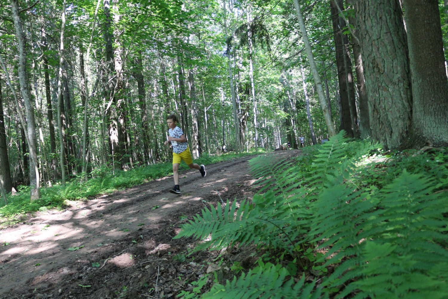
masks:
[[[412,134],[407,147],[448,146],[448,84],[436,0],[403,0],[412,79]]]

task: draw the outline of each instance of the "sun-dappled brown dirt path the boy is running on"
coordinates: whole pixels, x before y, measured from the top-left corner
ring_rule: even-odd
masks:
[[[0,247],[0,299],[175,298],[210,266],[184,259],[194,240],[172,237],[187,218],[219,200],[217,191],[223,200],[252,197],[247,160],[208,165],[206,178],[197,170],[181,173],[182,195],[168,192],[173,180],[165,177],[71,201],[60,212],[36,212],[26,224],[1,230],[1,244],[9,245]]]

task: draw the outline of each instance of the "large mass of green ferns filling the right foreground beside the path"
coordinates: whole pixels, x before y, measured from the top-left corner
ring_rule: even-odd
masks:
[[[448,298],[447,149],[382,154],[340,133],[250,166],[253,201],[211,205],[175,238],[201,240],[196,251],[254,244],[258,259],[184,299]]]

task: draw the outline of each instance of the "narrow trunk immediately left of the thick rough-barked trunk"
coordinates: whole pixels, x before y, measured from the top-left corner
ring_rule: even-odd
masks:
[[[353,6],[354,0],[345,1],[347,4]],[[349,15],[349,22],[351,25],[355,26],[355,28],[358,26],[352,15]],[[352,28],[352,33],[358,37],[358,30],[355,28]],[[362,66],[361,46],[356,41],[353,43],[353,56],[356,69],[356,85],[358,87],[359,133],[362,139],[366,139],[372,134],[370,130],[369,103],[367,98],[366,81],[364,78],[364,67]]]

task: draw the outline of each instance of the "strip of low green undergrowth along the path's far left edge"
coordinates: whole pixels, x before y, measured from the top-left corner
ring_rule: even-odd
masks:
[[[259,149],[258,152],[264,152]],[[239,155],[226,153],[222,155],[204,154],[194,163],[210,165],[222,161],[232,160],[238,157],[254,155],[253,152],[243,152]],[[179,170],[189,169],[185,163],[181,163]],[[0,208],[0,224],[13,225],[26,218],[27,212],[45,211],[51,208],[65,208],[67,199],[88,199],[90,196],[111,193],[124,188],[149,182],[157,178],[172,174],[172,163],[170,161],[154,165],[136,167],[128,171],[115,171],[109,167],[94,170],[87,182],[80,183],[78,178],[67,182],[65,186],[56,184],[51,188],[41,188],[42,198],[30,202],[29,186],[21,186],[17,195],[8,195],[8,204]]]

